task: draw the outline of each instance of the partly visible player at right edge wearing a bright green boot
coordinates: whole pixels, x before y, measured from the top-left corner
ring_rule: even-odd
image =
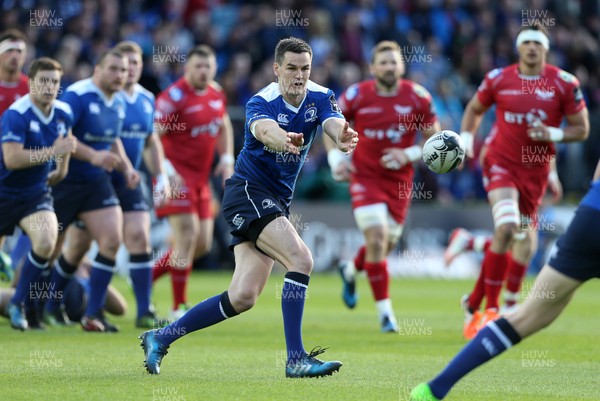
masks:
[[[600,162],[591,188],[558,239],[550,260],[535,279],[523,306],[483,327],[446,368],[411,393],[411,401],[439,401],[473,369],[547,327],[562,313],[575,291],[600,278]],[[596,234],[598,236],[596,236]]]

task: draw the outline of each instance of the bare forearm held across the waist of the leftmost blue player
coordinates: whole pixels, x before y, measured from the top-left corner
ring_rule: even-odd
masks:
[[[77,142],[70,135],[57,138],[52,146],[44,146],[39,149],[25,149],[22,143],[5,142],[2,144],[4,154],[4,165],[9,170],[21,170],[56,160],[59,156],[70,154],[75,151]]]

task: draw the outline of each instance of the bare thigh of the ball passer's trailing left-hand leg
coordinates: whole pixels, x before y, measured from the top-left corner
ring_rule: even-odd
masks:
[[[236,245],[233,253],[236,266],[228,292],[234,309],[241,312],[238,308],[251,307],[265,288],[274,261],[250,241]]]

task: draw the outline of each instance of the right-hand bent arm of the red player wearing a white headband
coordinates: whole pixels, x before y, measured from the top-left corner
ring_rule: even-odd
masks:
[[[527,130],[527,135],[534,141],[541,142],[577,142],[584,141],[590,134],[590,123],[587,108],[579,113],[566,116],[565,128],[548,127],[542,123]]]

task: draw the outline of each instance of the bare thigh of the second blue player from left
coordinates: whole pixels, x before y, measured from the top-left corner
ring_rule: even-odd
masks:
[[[93,239],[102,246],[103,242],[118,248],[122,239],[123,212],[119,206],[91,210],[79,215]]]

